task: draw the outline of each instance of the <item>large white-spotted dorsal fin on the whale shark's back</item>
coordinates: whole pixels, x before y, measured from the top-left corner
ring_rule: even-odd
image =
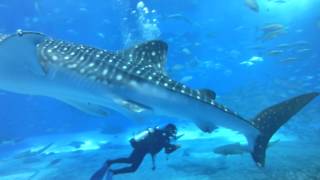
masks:
[[[160,40],[147,41],[119,52],[124,59],[135,65],[151,65],[156,71],[165,73],[168,45]]]

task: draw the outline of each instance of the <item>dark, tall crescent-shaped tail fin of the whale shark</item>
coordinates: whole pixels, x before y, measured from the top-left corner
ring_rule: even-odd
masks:
[[[266,149],[273,134],[318,95],[307,93],[291,98],[266,108],[254,118],[252,124],[260,130],[260,134],[253,140],[251,155],[258,167],[265,165]]]

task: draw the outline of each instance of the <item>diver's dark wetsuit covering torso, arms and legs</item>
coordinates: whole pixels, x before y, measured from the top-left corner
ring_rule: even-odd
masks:
[[[134,144],[133,147],[134,150],[129,157],[107,161],[106,164],[108,164],[108,166],[114,163],[131,164],[129,167],[111,170],[114,175],[135,172],[148,153],[150,153],[152,156],[155,156],[163,148],[165,148],[165,153],[169,154],[177,148],[176,145],[170,144],[169,136],[167,136],[167,134],[161,129],[155,129],[154,132],[150,133],[142,141]]]

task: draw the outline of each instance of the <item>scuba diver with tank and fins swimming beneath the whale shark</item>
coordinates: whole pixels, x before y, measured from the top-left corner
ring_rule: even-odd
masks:
[[[155,156],[163,148],[166,154],[171,154],[179,149],[179,145],[171,144],[170,141],[177,140],[181,136],[177,136],[177,128],[174,124],[167,124],[163,128],[148,128],[130,139],[133,151],[129,157],[107,160],[104,165],[93,174],[91,180],[101,180],[106,173],[107,179],[111,179],[113,175],[135,172],[147,154],[151,155],[152,170],[155,170]],[[131,165],[120,169],[109,169],[110,166],[115,163]]]

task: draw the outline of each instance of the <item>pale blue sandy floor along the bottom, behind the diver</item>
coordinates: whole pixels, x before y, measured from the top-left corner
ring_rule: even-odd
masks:
[[[267,152],[266,167],[257,168],[250,154],[220,156],[213,153],[215,140],[182,141],[182,148],[170,156],[157,156],[151,170],[146,156],[137,172],[115,176],[114,180],[318,180],[320,143],[278,142]],[[1,180],[88,180],[106,159],[126,156],[131,147],[105,145],[98,150],[0,159]],[[114,166],[113,168],[117,168]]]

